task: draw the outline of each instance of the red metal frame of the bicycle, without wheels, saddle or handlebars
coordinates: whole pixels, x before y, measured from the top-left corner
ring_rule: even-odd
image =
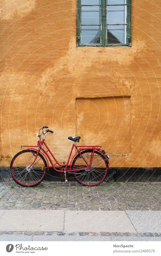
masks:
[[[47,151],[43,149],[43,145],[47,148]],[[37,141],[37,146],[22,145],[21,148],[22,148],[22,147],[27,147],[27,149],[32,149],[32,150],[37,151],[36,156],[35,156],[35,158],[34,158],[34,161],[31,163],[30,166],[28,166],[28,168],[30,168],[30,167],[35,163],[35,160],[37,159],[37,156],[38,156],[38,154],[40,153],[41,155],[43,155],[43,156],[45,157],[45,159],[46,159],[46,161],[47,161],[47,167],[48,167],[48,168],[47,168],[47,171],[49,170],[49,161],[50,161],[51,166],[53,167],[53,169],[54,169],[56,172],[64,172],[64,171],[70,172],[70,171],[72,170],[72,169],[71,169],[72,161],[73,161],[73,159],[75,158],[75,156],[76,156],[78,153],[79,153],[80,156],[83,158],[83,160],[85,161],[86,165],[88,166],[88,167],[86,167],[86,169],[88,169],[88,168],[90,169],[91,166],[92,166],[92,161],[93,161],[93,156],[94,156],[95,150],[100,151],[103,155],[105,155],[105,154],[101,151],[101,146],[76,146],[76,145],[75,145],[75,142],[73,142],[72,148],[71,148],[70,153],[69,153],[69,157],[68,157],[67,163],[66,163],[66,164],[60,164],[60,163],[56,160],[55,156],[53,155],[53,153],[51,152],[50,148],[47,146],[47,144],[46,144],[46,142],[45,142],[44,140],[43,140],[43,141]],[[77,152],[76,152],[76,154],[72,157],[72,160],[70,161],[70,158],[71,158],[72,151],[73,151],[73,148],[74,148],[74,147],[75,147],[75,149],[76,149]],[[38,148],[38,149],[37,149],[37,148]],[[43,153],[42,153],[40,150],[42,150]],[[87,163],[87,161],[85,160],[85,158],[84,158],[83,155],[81,154],[81,151],[84,151],[84,150],[93,150],[89,164]],[[54,161],[56,162],[55,164],[53,164],[53,161],[51,160],[51,157],[49,156],[49,154],[48,154],[47,152],[49,152],[49,153],[51,154],[51,156],[53,157]],[[105,156],[106,156],[106,155],[105,155]],[[107,156],[106,156],[106,158],[107,158],[107,161],[108,161],[108,163],[109,163],[109,160],[108,160],[108,157],[107,157]],[[49,161],[48,161],[48,160],[49,160]],[[67,169],[67,167],[68,167],[68,165],[69,165],[69,161],[70,161],[70,167],[69,167],[69,169]],[[56,164],[59,165],[59,166],[61,166],[61,167],[64,167],[65,169],[63,169],[63,168],[62,168],[62,170],[56,169],[56,168],[55,168],[55,165],[56,165]],[[85,168],[80,168],[80,169],[76,169],[76,170],[77,170],[77,171],[81,171],[81,170],[84,170],[84,169],[85,169]]]

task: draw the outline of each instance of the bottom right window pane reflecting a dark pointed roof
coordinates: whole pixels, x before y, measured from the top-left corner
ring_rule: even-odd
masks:
[[[107,43],[126,43],[126,25],[107,26]]]

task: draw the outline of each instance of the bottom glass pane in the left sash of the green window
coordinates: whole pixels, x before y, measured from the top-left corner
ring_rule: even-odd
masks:
[[[82,26],[81,32],[82,43],[100,43],[100,26]]]

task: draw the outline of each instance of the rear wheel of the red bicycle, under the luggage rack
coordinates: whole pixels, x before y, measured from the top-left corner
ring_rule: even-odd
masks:
[[[72,162],[72,171],[77,182],[84,186],[97,186],[101,184],[106,176],[108,169],[108,162],[106,157],[101,152],[95,151],[93,155],[92,166],[89,169],[86,162],[89,164],[91,161],[93,150],[85,150],[81,152],[82,156],[76,155]],[[84,159],[83,159],[84,158]],[[78,170],[77,169],[83,169]]]

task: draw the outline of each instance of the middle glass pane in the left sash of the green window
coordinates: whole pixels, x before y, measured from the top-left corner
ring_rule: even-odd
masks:
[[[81,24],[100,24],[100,6],[82,6]]]

